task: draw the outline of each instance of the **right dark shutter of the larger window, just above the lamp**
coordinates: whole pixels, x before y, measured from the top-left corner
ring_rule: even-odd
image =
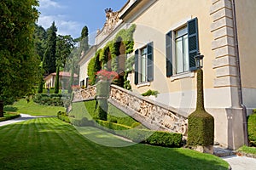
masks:
[[[197,18],[188,21],[189,70],[195,71],[195,55],[199,52]]]

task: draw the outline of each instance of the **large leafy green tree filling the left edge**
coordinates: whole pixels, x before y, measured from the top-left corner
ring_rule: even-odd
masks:
[[[37,0],[0,2],[0,100],[4,105],[31,94],[38,80],[33,43],[34,23],[38,20],[35,6]]]

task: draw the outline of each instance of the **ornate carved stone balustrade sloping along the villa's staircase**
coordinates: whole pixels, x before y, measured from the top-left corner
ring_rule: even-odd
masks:
[[[96,99],[96,86],[74,92],[73,102]],[[175,108],[163,105],[132,93],[125,88],[111,85],[108,102],[127,115],[154,130],[183,133],[187,136],[188,118],[177,113]]]

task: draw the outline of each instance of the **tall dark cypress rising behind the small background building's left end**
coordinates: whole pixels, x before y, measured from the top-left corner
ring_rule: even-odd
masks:
[[[56,42],[57,42],[57,28],[55,22],[47,30],[47,48],[48,53],[45,57],[44,71],[46,75],[56,71]]]

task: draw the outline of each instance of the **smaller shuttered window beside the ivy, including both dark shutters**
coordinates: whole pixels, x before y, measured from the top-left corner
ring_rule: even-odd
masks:
[[[154,80],[153,42],[135,51],[135,84]]]

